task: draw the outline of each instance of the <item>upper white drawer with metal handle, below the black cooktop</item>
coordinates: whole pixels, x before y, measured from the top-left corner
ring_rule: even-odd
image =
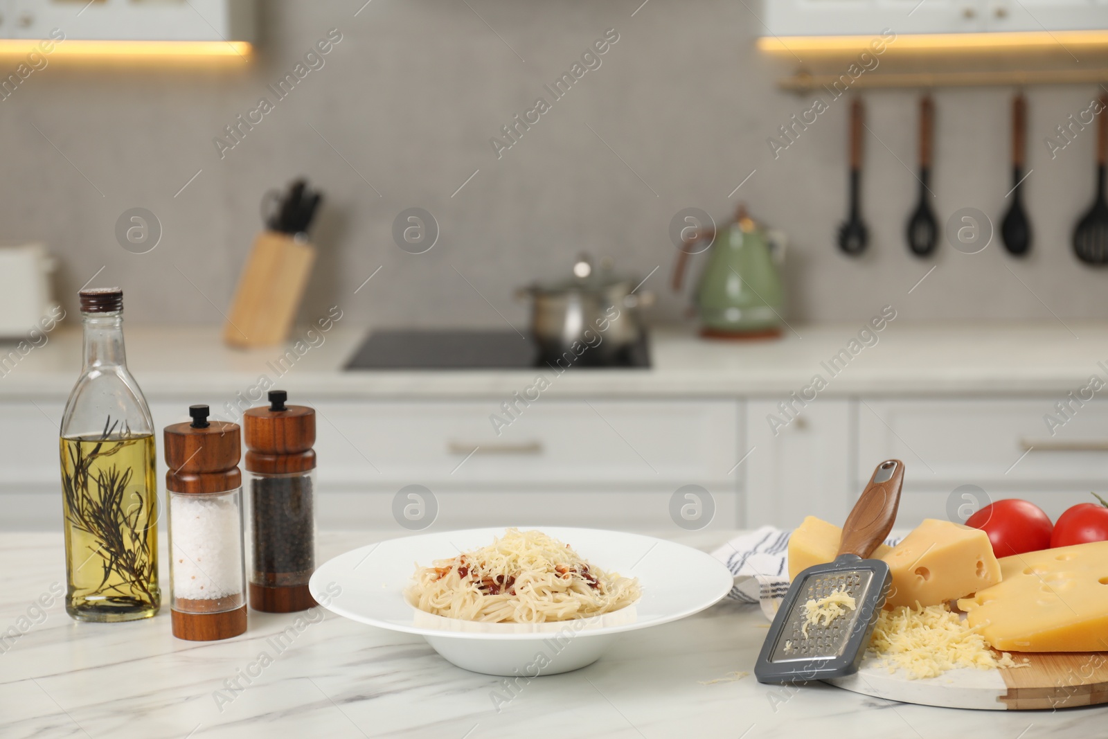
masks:
[[[320,484],[671,492],[735,480],[733,400],[542,401],[497,435],[500,402],[318,403]]]

